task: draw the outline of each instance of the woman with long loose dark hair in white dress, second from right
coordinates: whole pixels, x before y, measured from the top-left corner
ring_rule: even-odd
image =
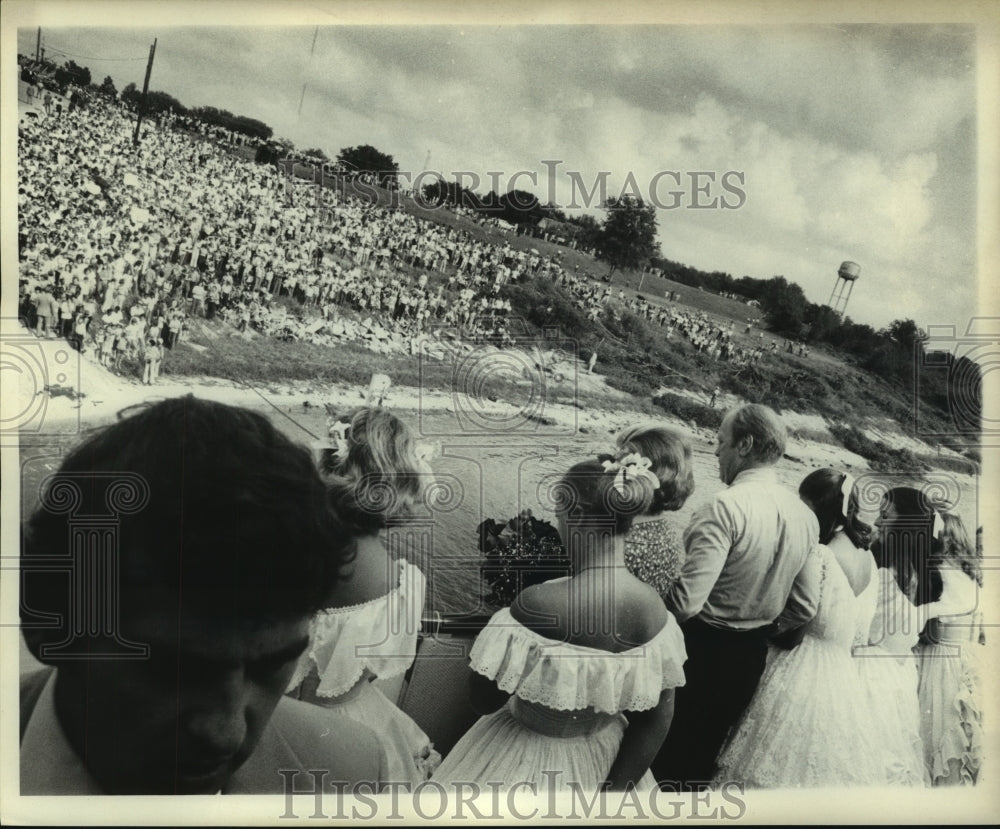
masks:
[[[925,786],[920,737],[919,675],[913,653],[932,601],[940,595],[940,576],[929,566],[934,510],[910,487],[889,490],[876,520],[872,542],[878,570],[878,602],[868,645],[855,649],[855,662],[875,715],[886,782]]]

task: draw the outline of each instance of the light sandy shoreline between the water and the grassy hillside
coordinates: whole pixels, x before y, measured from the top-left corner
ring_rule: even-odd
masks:
[[[108,423],[115,419],[119,411],[130,406],[185,394],[265,412],[282,412],[293,418],[296,414],[323,410],[324,405],[342,411],[365,402],[364,389],[355,385],[310,381],[248,386],[212,377],[162,375],[155,386],[145,386],[138,378],[122,377],[98,365],[92,360],[92,354],[81,357],[63,340],[37,339],[20,328],[14,335],[14,347],[20,348],[27,356],[19,357],[11,351],[11,338],[5,339],[4,368],[16,372],[18,394],[5,395],[8,399],[3,404],[4,423],[16,423],[20,418],[26,424],[22,437],[31,439],[34,435],[43,442],[45,435],[66,434]],[[35,359],[29,359],[31,356]],[[373,357],[376,356],[373,354]],[[528,355],[524,358],[530,360]],[[40,370],[40,367],[43,368]],[[5,379],[5,385],[10,388],[11,376]],[[603,377],[588,375],[582,364],[578,366],[576,389],[576,405],[552,403],[543,398],[529,409],[504,400],[472,399],[461,392],[393,386],[386,405],[404,414],[419,414],[421,418],[461,419],[472,413],[480,424],[498,423],[496,434],[503,437],[530,435],[532,423],[527,418],[531,417],[538,418],[544,429],[560,434],[594,436],[614,435],[637,420],[653,419],[638,410],[628,395],[607,386]],[[684,389],[671,391],[693,398]],[[599,397],[600,402],[591,403],[593,397]],[[610,408],[608,401],[615,398],[620,399],[621,406]],[[725,409],[739,402],[732,395],[722,395],[718,405]],[[822,416],[787,411],[781,417],[791,433],[786,453],[789,460],[815,467],[834,466],[853,471],[870,469],[865,458],[841,446],[795,436],[800,431],[810,435],[826,432],[826,420]],[[667,412],[656,415],[655,419],[681,429],[702,450],[714,447],[713,430]],[[517,422],[529,428],[521,432],[516,425],[511,426]],[[313,437],[322,440],[324,436],[313,434]],[[905,435],[883,434],[881,437],[892,439],[894,445],[905,443],[909,444],[908,448],[915,448],[913,444],[916,444],[920,451],[932,451]],[[32,442],[37,441],[32,439]]]

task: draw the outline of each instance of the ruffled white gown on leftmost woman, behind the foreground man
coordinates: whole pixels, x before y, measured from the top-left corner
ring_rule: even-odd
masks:
[[[419,567],[397,564],[398,586],[385,596],[316,614],[288,688],[308,686],[332,717],[371,728],[385,749],[390,780],[412,786],[428,779],[441,755],[420,726],[368,681],[405,673],[416,655],[426,579]]]

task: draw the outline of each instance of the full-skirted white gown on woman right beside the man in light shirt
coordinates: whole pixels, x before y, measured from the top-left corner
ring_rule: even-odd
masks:
[[[715,783],[748,788],[878,786],[879,750],[864,688],[851,656],[856,597],[833,552],[820,545],[819,610],[792,650],[771,647],[757,692],[718,758]],[[872,581],[875,563],[872,561]],[[873,585],[869,584],[869,589]],[[866,620],[870,622],[871,614]]]

